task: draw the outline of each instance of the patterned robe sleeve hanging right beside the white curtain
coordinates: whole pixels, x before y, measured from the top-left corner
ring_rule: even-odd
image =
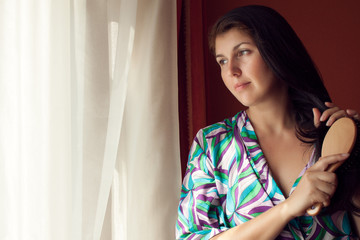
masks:
[[[200,131],[191,146],[180,195],[176,239],[210,239],[227,230],[215,182],[215,167]]]

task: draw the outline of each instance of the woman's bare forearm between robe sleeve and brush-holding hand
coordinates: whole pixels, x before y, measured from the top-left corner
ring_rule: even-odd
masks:
[[[211,240],[275,239],[292,218],[285,201],[248,222],[214,236]]]

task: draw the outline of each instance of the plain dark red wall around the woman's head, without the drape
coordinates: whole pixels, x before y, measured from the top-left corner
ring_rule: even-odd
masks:
[[[318,66],[333,101],[360,111],[360,1],[358,0],[204,0],[204,34],[228,10],[248,4],[274,8],[290,23]],[[231,117],[243,107],[225,88],[219,68],[207,50],[206,114],[211,124]]]

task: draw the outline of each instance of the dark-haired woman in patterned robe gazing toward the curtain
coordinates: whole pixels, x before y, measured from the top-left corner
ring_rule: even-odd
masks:
[[[196,135],[177,239],[352,239],[347,211],[306,210],[330,205],[337,176],[324,170],[348,157],[317,161],[326,126],[358,113],[331,103],[301,41],[270,8],[230,11],[214,25],[210,48],[247,109]]]

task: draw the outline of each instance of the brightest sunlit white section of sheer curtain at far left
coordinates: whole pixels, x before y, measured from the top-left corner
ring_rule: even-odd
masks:
[[[0,5],[0,238],[69,239],[70,2],[32,4]]]

